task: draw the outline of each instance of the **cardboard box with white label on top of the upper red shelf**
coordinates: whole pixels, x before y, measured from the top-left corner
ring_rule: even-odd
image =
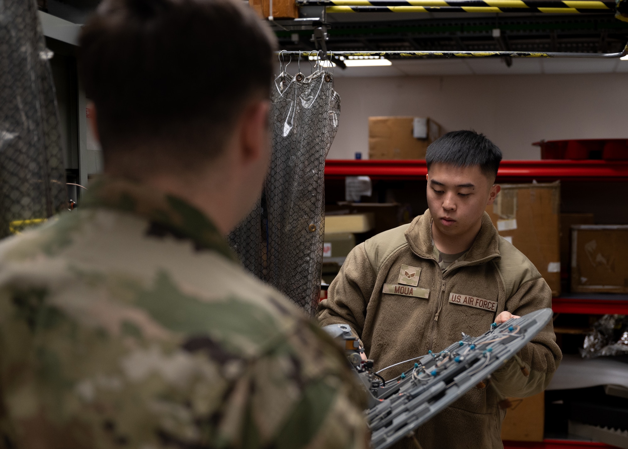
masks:
[[[369,159],[425,159],[441,133],[430,118],[369,117]]]

